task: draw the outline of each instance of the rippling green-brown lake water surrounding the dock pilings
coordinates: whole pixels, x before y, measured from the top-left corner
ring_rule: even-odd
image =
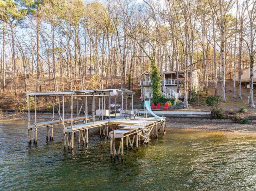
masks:
[[[140,150],[111,159],[109,140],[63,149],[61,128],[28,146],[27,123],[0,122],[0,190],[255,190],[256,136],[168,129]],[[116,143],[117,145],[118,143]]]

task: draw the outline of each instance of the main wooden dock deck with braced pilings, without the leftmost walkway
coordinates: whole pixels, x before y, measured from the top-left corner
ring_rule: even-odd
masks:
[[[110,156],[118,156],[121,152],[122,159],[124,158],[124,138],[126,139],[126,148],[130,145],[133,149],[134,141],[136,140],[136,149],[142,141],[142,144],[148,143],[149,137],[157,137],[160,129],[166,133],[166,118],[159,120],[154,117],[136,117],[135,119],[123,119],[121,116],[116,118],[99,120],[87,124],[77,124],[64,128],[64,148],[74,148],[74,133],[78,132],[78,142],[88,144],[88,130],[91,128],[100,128],[100,136],[110,137]],[[112,128],[110,130],[110,128]],[[110,130],[110,132],[109,132]],[[69,140],[68,133],[71,133]],[[118,152],[115,148],[115,140],[120,139]]]

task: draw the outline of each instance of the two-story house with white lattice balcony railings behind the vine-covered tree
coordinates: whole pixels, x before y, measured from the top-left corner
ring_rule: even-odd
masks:
[[[195,91],[197,91],[198,88],[200,74],[199,69],[193,70],[192,78],[189,79],[189,83],[191,83],[192,88]],[[144,73],[143,75],[144,80],[140,82],[142,87],[142,96],[145,98],[152,98],[151,73]],[[162,79],[161,90],[163,96],[166,98],[184,98],[184,71],[178,71],[178,74],[177,71],[164,72]]]

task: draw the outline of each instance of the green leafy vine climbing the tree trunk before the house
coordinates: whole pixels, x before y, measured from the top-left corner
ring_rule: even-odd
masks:
[[[152,92],[153,92],[153,98],[152,102],[157,102],[158,99],[161,96],[161,78],[159,69],[156,66],[156,62],[154,59],[150,58],[151,67],[152,67],[152,75],[151,75],[151,82],[152,82]]]

